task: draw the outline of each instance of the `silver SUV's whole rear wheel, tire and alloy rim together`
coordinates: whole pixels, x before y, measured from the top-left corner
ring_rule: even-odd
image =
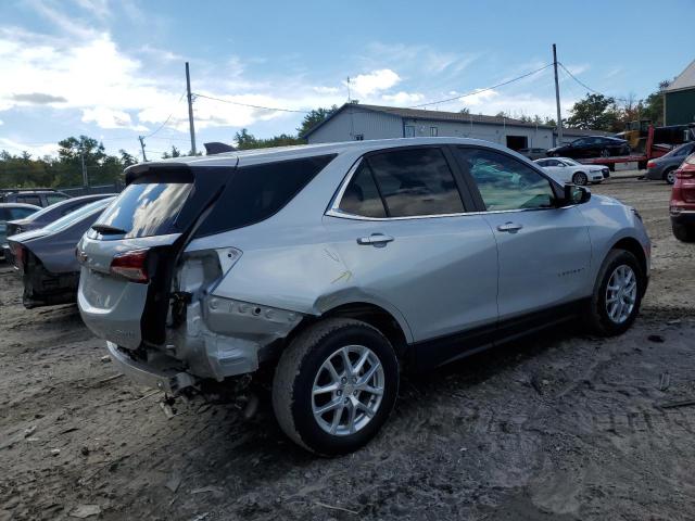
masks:
[[[303,331],[282,353],[273,408],[285,433],[321,456],[351,453],[386,422],[399,390],[399,361],[371,326],[331,318]]]

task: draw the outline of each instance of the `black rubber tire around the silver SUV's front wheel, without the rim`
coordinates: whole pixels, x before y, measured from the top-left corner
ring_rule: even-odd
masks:
[[[637,291],[634,302],[634,307],[631,314],[621,323],[617,323],[608,316],[607,309],[607,287],[614,271],[622,265],[629,266],[635,275]],[[594,284],[594,293],[591,297],[589,308],[585,315],[585,323],[590,332],[599,336],[614,336],[624,333],[640,313],[640,306],[642,304],[642,297],[646,291],[646,275],[640,266],[637,258],[626,250],[611,250],[606,256],[601,269],[598,270],[598,277]]]

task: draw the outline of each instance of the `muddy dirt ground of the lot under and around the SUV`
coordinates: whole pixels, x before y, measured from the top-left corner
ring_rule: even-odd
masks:
[[[695,245],[669,187],[611,179],[654,241],[635,326],[610,340],[551,331],[407,377],[366,448],[317,459],[266,395],[189,404],[118,377],[74,306],[25,310],[0,267],[2,519],[695,519]]]

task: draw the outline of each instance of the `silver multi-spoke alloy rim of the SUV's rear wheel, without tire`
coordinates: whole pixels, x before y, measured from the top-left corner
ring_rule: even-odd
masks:
[[[384,383],[383,367],[370,348],[364,345],[339,348],[326,358],[314,379],[314,419],[329,434],[354,434],[379,410]]]

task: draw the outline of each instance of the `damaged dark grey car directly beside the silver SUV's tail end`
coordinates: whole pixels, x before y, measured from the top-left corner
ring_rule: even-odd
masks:
[[[75,247],[115,198],[89,203],[65,217],[8,240],[15,268],[24,281],[27,308],[74,302],[79,282]]]

